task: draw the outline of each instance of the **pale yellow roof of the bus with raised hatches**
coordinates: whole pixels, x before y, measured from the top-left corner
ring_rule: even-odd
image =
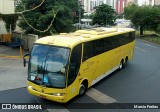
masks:
[[[132,28],[93,28],[86,30],[77,30],[73,33],[61,33],[59,35],[47,36],[38,39],[35,43],[54,45],[72,48],[78,43],[96,40],[104,37],[110,37],[127,32],[135,31]]]

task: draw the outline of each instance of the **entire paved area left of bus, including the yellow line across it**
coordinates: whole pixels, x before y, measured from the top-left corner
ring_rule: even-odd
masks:
[[[0,91],[26,87],[26,76],[27,67],[23,67],[19,48],[0,45]]]

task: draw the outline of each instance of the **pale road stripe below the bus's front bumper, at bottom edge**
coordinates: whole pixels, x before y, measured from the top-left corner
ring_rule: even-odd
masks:
[[[35,98],[36,102],[39,104],[44,104],[44,102],[41,102],[38,98]],[[47,105],[47,104],[46,104]],[[57,109],[47,109],[46,105],[42,105],[42,107],[44,107],[48,112],[70,112],[68,109],[64,108],[64,109],[60,109],[59,107],[57,107]],[[53,108],[53,106],[52,106]]]

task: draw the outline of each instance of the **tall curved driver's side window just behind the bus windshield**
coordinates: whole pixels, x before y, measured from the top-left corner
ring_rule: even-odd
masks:
[[[82,44],[78,44],[72,50],[70,58],[70,69],[68,73],[68,86],[72,84],[79,72],[82,55]]]

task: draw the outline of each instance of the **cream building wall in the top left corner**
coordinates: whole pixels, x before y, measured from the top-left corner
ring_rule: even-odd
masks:
[[[10,14],[14,12],[14,0],[0,0],[0,13]]]

